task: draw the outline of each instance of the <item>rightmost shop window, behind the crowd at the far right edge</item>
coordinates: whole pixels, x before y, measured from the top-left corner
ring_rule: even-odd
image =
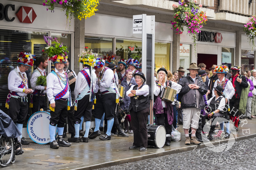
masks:
[[[252,50],[242,50],[241,51],[241,73],[246,70],[253,70],[254,67],[254,51]]]

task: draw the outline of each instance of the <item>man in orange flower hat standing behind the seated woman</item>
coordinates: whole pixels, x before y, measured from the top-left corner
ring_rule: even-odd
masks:
[[[220,122],[220,128],[224,131],[224,123],[226,123],[227,131],[225,133],[225,138],[230,137],[229,132],[229,116],[228,116],[228,100],[230,100],[235,94],[235,89],[225,75],[228,73],[228,67],[225,65],[216,66],[214,72],[217,74],[218,79],[214,82],[212,89],[212,97],[214,97],[214,88],[220,85],[223,88],[223,94],[225,95],[225,109],[224,109],[224,118],[227,120],[226,122]]]

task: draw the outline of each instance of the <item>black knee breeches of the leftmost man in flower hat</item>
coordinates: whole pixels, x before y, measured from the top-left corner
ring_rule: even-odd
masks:
[[[8,116],[16,124],[23,124],[28,116],[28,102],[22,102],[20,98],[10,98]]]

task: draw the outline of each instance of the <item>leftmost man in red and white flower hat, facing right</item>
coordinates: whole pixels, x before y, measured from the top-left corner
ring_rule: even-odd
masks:
[[[5,107],[8,108],[8,115],[16,124],[17,128],[22,133],[23,123],[28,115],[28,94],[31,94],[32,89],[28,88],[28,78],[25,71],[33,66],[35,55],[20,52],[18,55],[18,65],[8,75],[8,89]],[[27,140],[20,135],[21,144],[29,144]]]

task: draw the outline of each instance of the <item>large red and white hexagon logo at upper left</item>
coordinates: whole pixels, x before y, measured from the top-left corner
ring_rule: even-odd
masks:
[[[36,19],[36,12],[32,7],[21,6],[16,12],[16,16],[20,22],[32,24]]]

